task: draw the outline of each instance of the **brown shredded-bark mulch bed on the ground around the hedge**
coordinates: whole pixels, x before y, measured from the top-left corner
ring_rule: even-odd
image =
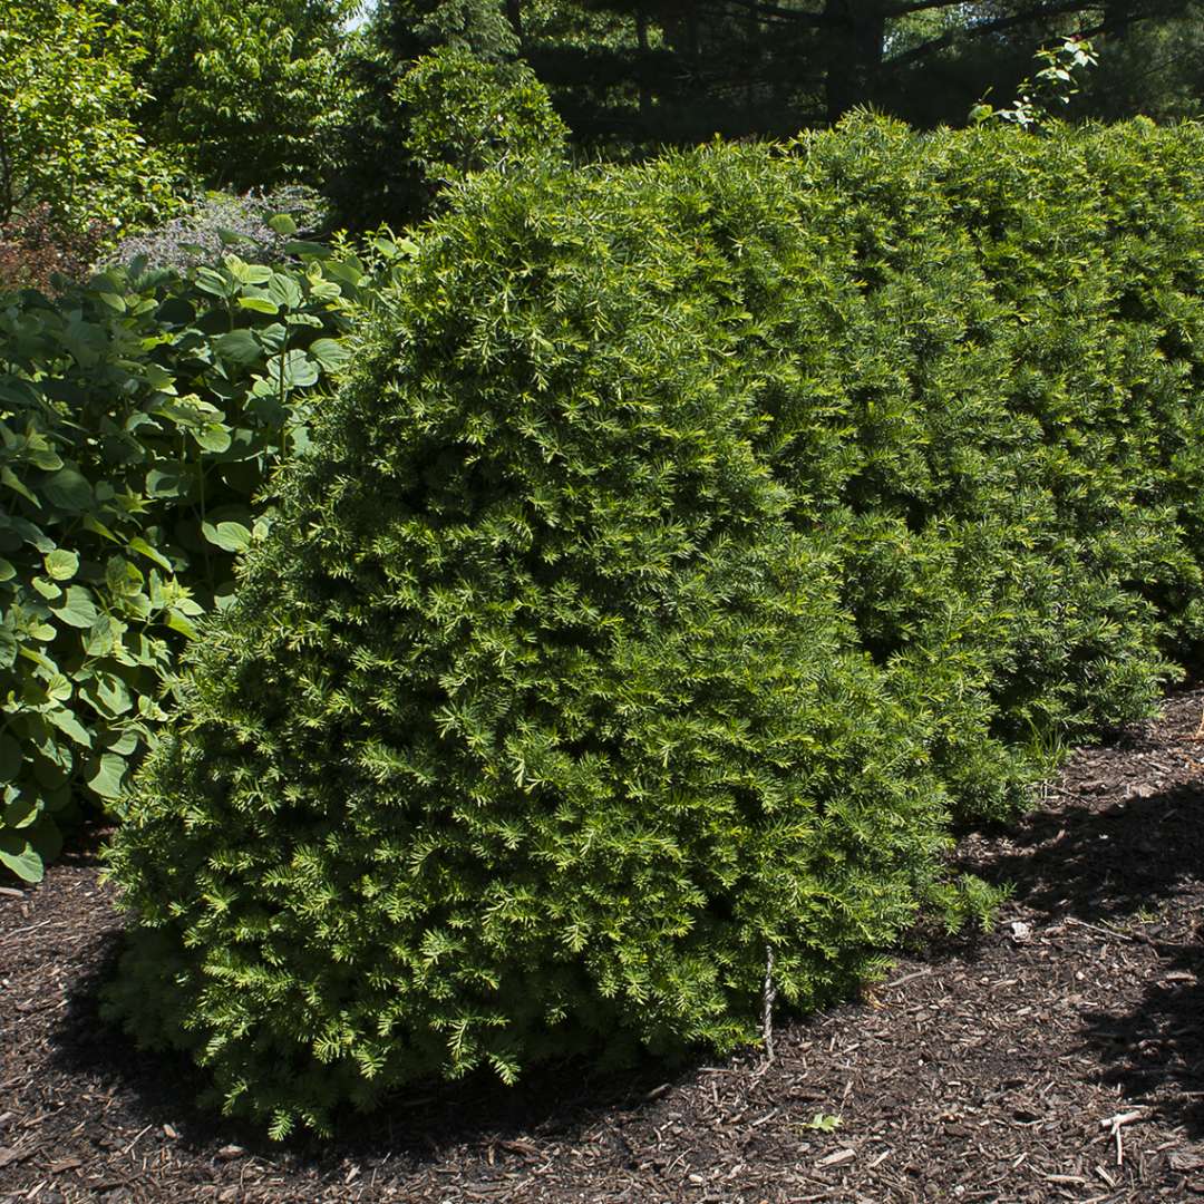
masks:
[[[773,1062],[433,1087],[325,1146],[197,1111],[190,1067],[99,1021],[120,919],[81,849],[0,895],[0,1199],[1204,1199],[1202,709],[1171,698],[967,837],[1016,886],[996,929],[779,1022]]]

